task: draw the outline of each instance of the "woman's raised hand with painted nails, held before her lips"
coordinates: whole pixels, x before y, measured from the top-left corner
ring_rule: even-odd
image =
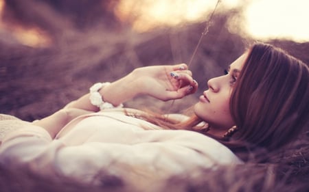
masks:
[[[148,94],[160,100],[183,98],[193,94],[198,83],[186,64],[174,66],[148,66],[137,68],[130,74],[139,81],[141,94]]]

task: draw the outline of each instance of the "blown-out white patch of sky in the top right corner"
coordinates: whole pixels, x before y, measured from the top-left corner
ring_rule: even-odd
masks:
[[[309,41],[308,0],[260,0],[247,8],[247,30],[256,38]]]

